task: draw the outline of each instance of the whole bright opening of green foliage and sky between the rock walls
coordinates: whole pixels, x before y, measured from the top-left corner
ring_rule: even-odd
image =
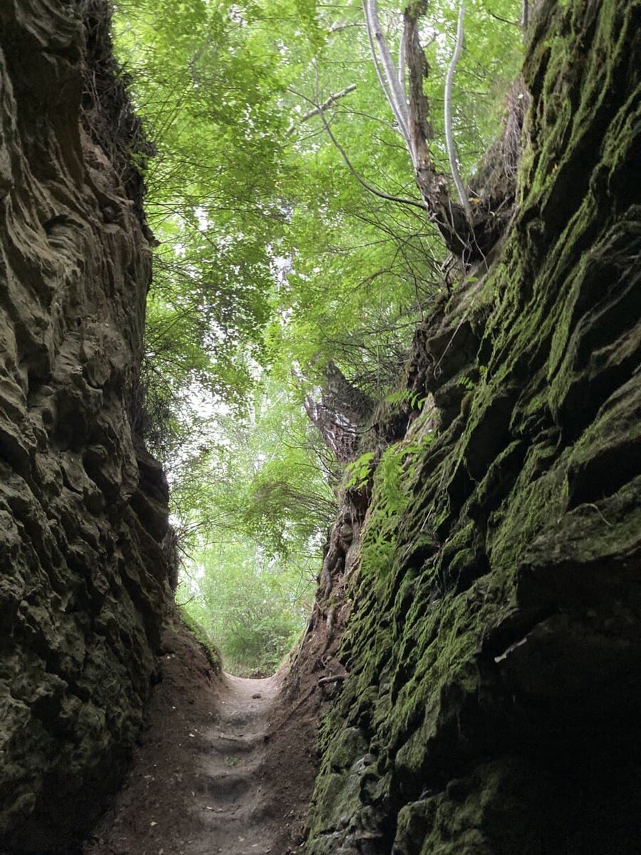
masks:
[[[303,402],[332,367],[389,397],[468,240],[429,209],[411,154],[429,156],[456,208],[444,100],[460,3],[412,9],[428,150],[403,139],[402,4],[117,3],[117,55],[156,150],[130,152],[158,242],[139,429],[172,486],[178,600],[232,669],[275,668],[309,614],[343,468]],[[450,104],[464,184],[499,133],[519,19],[520,0],[465,4]]]

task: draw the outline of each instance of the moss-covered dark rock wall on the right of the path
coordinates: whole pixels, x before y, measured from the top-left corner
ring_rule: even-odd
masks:
[[[638,849],[640,32],[538,11],[515,220],[416,334],[341,592],[309,855]]]

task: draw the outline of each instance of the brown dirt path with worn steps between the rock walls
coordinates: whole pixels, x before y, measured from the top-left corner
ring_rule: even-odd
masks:
[[[287,855],[303,842],[320,691],[217,675],[184,628],[115,803],[84,855]]]

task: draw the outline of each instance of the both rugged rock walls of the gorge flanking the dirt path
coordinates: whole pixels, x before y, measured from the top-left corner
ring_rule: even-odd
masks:
[[[641,3],[533,5],[515,213],[370,416],[285,676],[325,710],[307,855],[638,851]],[[0,852],[49,855],[120,785],[174,614],[152,152],[102,0],[0,0],[0,44]]]

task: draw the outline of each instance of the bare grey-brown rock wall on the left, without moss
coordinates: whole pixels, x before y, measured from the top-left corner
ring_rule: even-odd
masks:
[[[0,3],[0,850],[9,852],[60,851],[95,818],[137,738],[170,601],[167,485],[131,417],[150,281],[140,182],[97,133],[115,109],[131,120],[97,89],[106,15],[97,0]],[[128,146],[122,139],[121,152]]]

